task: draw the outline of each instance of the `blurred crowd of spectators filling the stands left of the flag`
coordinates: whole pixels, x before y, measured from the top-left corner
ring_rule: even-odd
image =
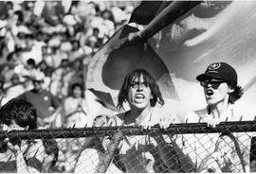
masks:
[[[88,64],[115,31],[127,23],[133,9],[133,2],[120,1],[0,2],[0,107],[42,82],[42,88],[62,103],[61,126],[84,127],[86,123],[76,121],[82,115],[89,116],[83,96]],[[38,75],[42,79],[35,80]],[[48,110],[51,112],[52,108]],[[77,144],[81,145],[81,141]],[[55,171],[74,170],[66,164],[68,154],[82,147],[69,146],[73,151],[64,151],[65,140],[58,142]],[[69,161],[73,163],[71,157]]]

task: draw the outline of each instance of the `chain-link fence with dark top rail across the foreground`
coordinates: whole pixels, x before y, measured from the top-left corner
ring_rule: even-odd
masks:
[[[255,171],[254,124],[223,122],[210,128],[205,123],[188,123],[171,125],[167,130],[157,126],[151,130],[13,130],[0,131],[0,139],[1,144],[7,137],[13,145],[22,142],[24,158],[29,155],[27,147],[37,142],[33,154],[41,156],[42,165],[37,167],[42,172],[246,172]],[[13,157],[6,160],[4,154],[9,153],[3,147],[0,171],[6,171],[5,163],[13,161]]]

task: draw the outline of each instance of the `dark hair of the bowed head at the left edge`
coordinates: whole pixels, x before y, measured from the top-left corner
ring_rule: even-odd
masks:
[[[0,109],[0,122],[8,126],[14,121],[22,128],[28,126],[29,130],[35,130],[36,119],[36,109],[31,103],[22,99],[13,98]]]

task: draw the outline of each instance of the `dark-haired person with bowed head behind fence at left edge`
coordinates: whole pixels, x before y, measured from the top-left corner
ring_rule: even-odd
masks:
[[[35,130],[36,110],[25,100],[11,99],[0,109],[3,130]],[[45,148],[40,140],[5,139],[0,142],[1,172],[40,172]]]

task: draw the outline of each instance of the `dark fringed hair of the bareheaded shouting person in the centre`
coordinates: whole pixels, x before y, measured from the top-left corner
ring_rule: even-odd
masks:
[[[136,78],[143,77],[144,82],[149,84],[151,89],[151,95],[153,98],[150,100],[150,105],[152,107],[155,106],[156,102],[160,105],[164,105],[164,100],[162,98],[161,92],[159,90],[158,85],[155,82],[155,78],[153,78],[146,70],[144,69],[136,69],[130,72],[123,80],[122,87],[119,91],[119,103],[118,109],[123,109],[123,102],[128,100],[128,93],[131,88],[131,84],[134,82]]]

